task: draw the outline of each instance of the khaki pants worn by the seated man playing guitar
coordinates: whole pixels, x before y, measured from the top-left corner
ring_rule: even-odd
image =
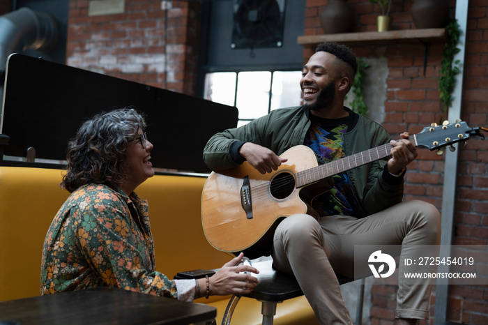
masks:
[[[404,255],[411,245],[439,245],[440,241],[439,211],[415,200],[362,219],[327,216],[317,221],[306,214],[289,216],[276,229],[273,261],[280,271],[296,276],[321,324],[352,324],[335,274],[353,276],[354,245],[402,245]],[[395,317],[429,319],[431,286],[411,284],[401,276],[398,285]]]

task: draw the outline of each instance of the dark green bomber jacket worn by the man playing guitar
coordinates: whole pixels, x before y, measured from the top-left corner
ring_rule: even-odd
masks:
[[[344,135],[346,156],[390,142],[390,134],[379,123],[347,107],[344,109],[350,116]],[[304,143],[311,124],[308,114],[301,106],[275,109],[245,126],[217,133],[204,148],[204,161],[215,171],[236,167],[244,161],[238,153],[244,142],[265,146],[280,156],[291,147]],[[356,202],[351,202],[356,217],[363,218],[402,202],[404,174],[392,176],[386,168],[388,158],[347,171],[356,199]]]

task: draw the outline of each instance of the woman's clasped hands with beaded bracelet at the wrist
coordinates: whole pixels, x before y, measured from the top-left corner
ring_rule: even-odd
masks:
[[[247,271],[257,274],[259,271],[248,265],[237,266],[243,257],[244,254],[241,252],[238,257],[224,264],[217,273],[208,278],[211,295],[226,296],[227,294],[249,294],[252,292],[252,289],[257,285],[257,278],[241,272]],[[201,292],[203,292],[201,296],[205,296],[206,279],[198,279],[197,281],[199,281]]]

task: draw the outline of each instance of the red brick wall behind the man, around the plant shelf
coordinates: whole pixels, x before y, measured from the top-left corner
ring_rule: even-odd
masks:
[[[451,17],[455,17],[455,1],[448,0]],[[486,1],[470,0],[462,120],[469,126],[487,126],[488,114],[488,6]],[[308,0],[305,35],[323,33],[319,14],[327,0]],[[365,0],[349,0],[355,13],[354,32],[376,31],[379,9]],[[413,29],[409,10],[413,1],[393,1],[392,29]],[[422,127],[443,118],[439,103],[437,77],[441,68],[442,44],[432,44],[425,75],[424,47],[421,44],[386,47],[388,59],[386,119],[383,126],[398,137],[399,130],[418,133]],[[359,57],[377,56],[374,46],[353,47]],[[304,60],[313,53],[305,48]],[[371,73],[368,71],[368,73]],[[374,73],[374,72],[373,72]],[[455,119],[453,117],[453,119]],[[418,159],[408,167],[405,199],[422,199],[442,206],[444,156],[419,150]],[[457,200],[455,202],[455,244],[487,244],[488,241],[488,141],[473,139],[466,149],[459,149]],[[486,266],[484,266],[486,268]],[[396,306],[396,285],[374,285],[372,288],[372,324],[392,324]],[[431,320],[434,324],[435,289],[431,296]],[[448,320],[466,324],[488,324],[487,286],[450,286]],[[421,322],[427,324],[427,322]]]

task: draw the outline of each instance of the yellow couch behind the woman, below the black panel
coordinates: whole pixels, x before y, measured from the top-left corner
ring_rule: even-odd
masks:
[[[205,178],[156,175],[137,188],[148,199],[156,269],[172,278],[179,271],[217,269],[231,257],[215,250],[201,228]],[[59,187],[60,169],[0,166],[0,301],[39,294],[40,257],[47,228],[69,193]],[[230,296],[197,303],[217,308],[220,324]],[[241,298],[231,324],[261,324],[261,303]],[[318,324],[305,297],[277,305],[275,324]]]

